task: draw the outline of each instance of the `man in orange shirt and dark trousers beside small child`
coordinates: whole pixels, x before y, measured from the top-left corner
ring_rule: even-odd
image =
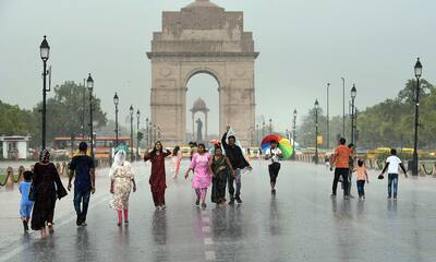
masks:
[[[339,178],[342,177],[342,184],[343,184],[343,195],[344,199],[349,199],[349,191],[348,191],[348,176],[350,172],[350,156],[351,151],[346,145],[346,139],[341,138],[339,140],[339,146],[335,150],[334,156],[334,166],[335,166],[335,178],[332,183],[332,193],[331,196],[336,198],[338,181]]]

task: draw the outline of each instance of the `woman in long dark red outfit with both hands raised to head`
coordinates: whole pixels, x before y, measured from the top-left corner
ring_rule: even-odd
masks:
[[[165,210],[165,189],[167,188],[166,172],[165,172],[165,157],[171,155],[171,152],[164,150],[160,141],[156,142],[152,152],[144,155],[144,160],[152,162],[152,175],[149,184],[152,188],[153,201],[155,202],[156,210]]]

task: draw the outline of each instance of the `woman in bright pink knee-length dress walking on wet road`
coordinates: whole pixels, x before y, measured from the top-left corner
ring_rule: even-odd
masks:
[[[191,166],[184,176],[184,178],[187,179],[190,171],[194,171],[192,187],[197,195],[195,205],[199,205],[199,201],[202,201],[203,209],[206,207],[207,189],[210,187],[210,178],[213,174],[210,170],[210,164],[211,156],[209,152],[206,152],[206,146],[204,144],[198,144],[197,153],[193,155]]]

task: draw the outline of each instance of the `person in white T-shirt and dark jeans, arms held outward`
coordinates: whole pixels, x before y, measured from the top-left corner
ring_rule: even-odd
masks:
[[[393,189],[393,200],[397,200],[398,174],[400,167],[404,172],[404,176],[408,177],[408,171],[405,170],[404,165],[402,164],[401,159],[397,156],[397,150],[391,148],[390,156],[386,159],[385,168],[383,168],[380,176],[378,176],[379,179],[383,179],[384,178],[383,175],[385,174],[386,169],[388,169],[388,199],[392,198],[392,189]]]

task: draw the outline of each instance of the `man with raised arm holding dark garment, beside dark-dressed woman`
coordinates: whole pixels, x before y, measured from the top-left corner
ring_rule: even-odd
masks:
[[[230,130],[230,127],[227,127],[227,132],[222,135],[222,139],[221,139],[221,144],[226,151],[226,156],[229,157],[230,164],[232,165],[232,167],[234,169],[234,177],[231,175],[228,177],[229,194],[230,194],[229,204],[233,204],[234,200],[237,200],[237,202],[239,204],[241,204],[242,203],[242,200],[241,200],[241,169],[244,169],[244,168],[252,169],[252,167],[246,162],[241,147],[239,147],[235,144],[237,138],[234,138],[234,135],[230,135],[228,139],[229,143],[227,143],[227,133],[229,132],[229,130]],[[233,181],[237,182],[237,194],[235,195],[234,195]]]

